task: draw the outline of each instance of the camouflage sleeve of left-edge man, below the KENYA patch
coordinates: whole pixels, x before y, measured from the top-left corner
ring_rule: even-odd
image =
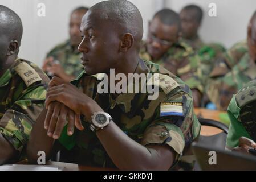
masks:
[[[26,85],[21,83],[17,90],[23,89],[22,87],[26,88]],[[46,88],[46,84],[36,82],[19,92],[22,93],[21,96],[15,96],[14,93],[14,97],[18,99],[5,111],[0,121],[0,133],[19,152],[27,144],[32,125],[44,108]]]

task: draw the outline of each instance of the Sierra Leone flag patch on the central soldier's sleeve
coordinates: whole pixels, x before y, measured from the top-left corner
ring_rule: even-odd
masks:
[[[160,117],[168,115],[183,116],[182,102],[161,102]]]

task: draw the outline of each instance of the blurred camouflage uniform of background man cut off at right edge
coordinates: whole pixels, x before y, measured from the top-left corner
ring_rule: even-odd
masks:
[[[218,110],[226,110],[233,94],[256,78],[256,65],[246,49],[243,42],[235,44],[210,74],[206,92]]]

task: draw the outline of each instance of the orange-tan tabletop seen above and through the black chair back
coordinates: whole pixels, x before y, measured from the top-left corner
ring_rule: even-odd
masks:
[[[203,108],[194,108],[194,112],[196,113],[197,117],[205,118],[205,119],[213,119],[216,121],[220,121],[219,115],[220,113],[226,114],[225,111],[218,111],[218,110],[209,110]],[[200,135],[210,136],[216,135],[221,133],[222,130],[217,129],[216,127],[212,126],[202,126]]]

